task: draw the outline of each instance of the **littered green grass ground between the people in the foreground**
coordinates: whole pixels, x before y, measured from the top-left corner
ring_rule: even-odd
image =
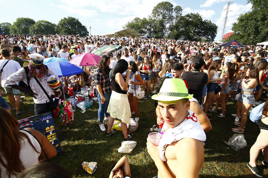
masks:
[[[5,98],[8,102],[7,96]],[[155,107],[153,102],[151,98],[147,100],[140,99],[138,102],[140,112],[139,127],[133,133],[133,140],[137,142],[137,146],[129,154],[118,153],[118,148],[123,141],[121,131],[107,137],[105,136],[106,132],[102,132],[99,129],[97,117],[99,105],[96,102],[85,113],[81,113],[81,110],[78,108],[74,112],[74,121],[71,124],[67,124],[67,126],[60,125],[59,120],[55,119],[63,153],[57,155],[51,161],[63,166],[72,177],[107,178],[111,167],[123,155],[126,155],[130,162],[133,177],[154,177],[157,175],[157,168],[146,148],[147,135],[150,133],[149,128],[155,124]],[[10,103],[8,104],[10,105]],[[25,113],[16,117],[16,119],[19,120],[33,116],[32,98],[27,96],[22,98],[21,109]],[[259,134],[258,125],[248,120],[244,132],[247,146],[236,152],[223,142],[223,140],[228,141],[234,134],[231,128],[236,127],[233,124],[234,117],[230,116],[232,113],[235,113],[235,104],[228,102],[226,109],[227,117],[225,118],[217,117],[216,113],[210,116],[212,118],[212,130],[206,133],[205,161],[200,171],[200,177],[255,177],[246,166],[246,163],[249,161],[250,147],[254,144]],[[15,112],[12,111],[12,114],[14,116]],[[261,165],[261,160],[263,160],[262,154],[258,158],[257,165]],[[82,169],[81,164],[83,161],[95,161],[98,163],[98,168],[93,175],[88,174]],[[264,166],[258,166],[258,168],[264,170],[265,175],[268,174]]]

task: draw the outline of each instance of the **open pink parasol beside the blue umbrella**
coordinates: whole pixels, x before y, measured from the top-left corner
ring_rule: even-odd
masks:
[[[77,66],[97,66],[99,64],[100,56],[91,53],[79,54],[74,57],[69,63]]]

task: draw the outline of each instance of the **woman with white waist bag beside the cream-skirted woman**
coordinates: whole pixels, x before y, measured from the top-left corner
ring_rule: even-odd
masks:
[[[135,112],[135,121],[139,120],[139,110],[138,110],[138,101],[139,99],[135,97],[135,92],[141,91],[141,86],[143,84],[143,80],[141,79],[141,74],[138,71],[137,65],[134,61],[128,62],[128,70],[130,71],[129,77],[129,88],[128,88],[128,101],[130,104],[131,114]],[[133,99],[133,101],[132,101]]]

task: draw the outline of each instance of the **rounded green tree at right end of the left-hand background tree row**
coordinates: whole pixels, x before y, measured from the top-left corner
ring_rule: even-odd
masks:
[[[57,33],[63,35],[77,35],[85,36],[88,34],[88,30],[82,23],[74,17],[63,18],[59,21],[55,27]]]

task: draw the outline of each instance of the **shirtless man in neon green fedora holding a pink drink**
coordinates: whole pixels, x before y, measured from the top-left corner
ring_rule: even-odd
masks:
[[[147,150],[158,168],[158,178],[198,178],[204,163],[205,132],[194,112],[189,110],[193,95],[188,95],[181,79],[165,79],[158,100],[165,121],[158,147],[147,138]]]

